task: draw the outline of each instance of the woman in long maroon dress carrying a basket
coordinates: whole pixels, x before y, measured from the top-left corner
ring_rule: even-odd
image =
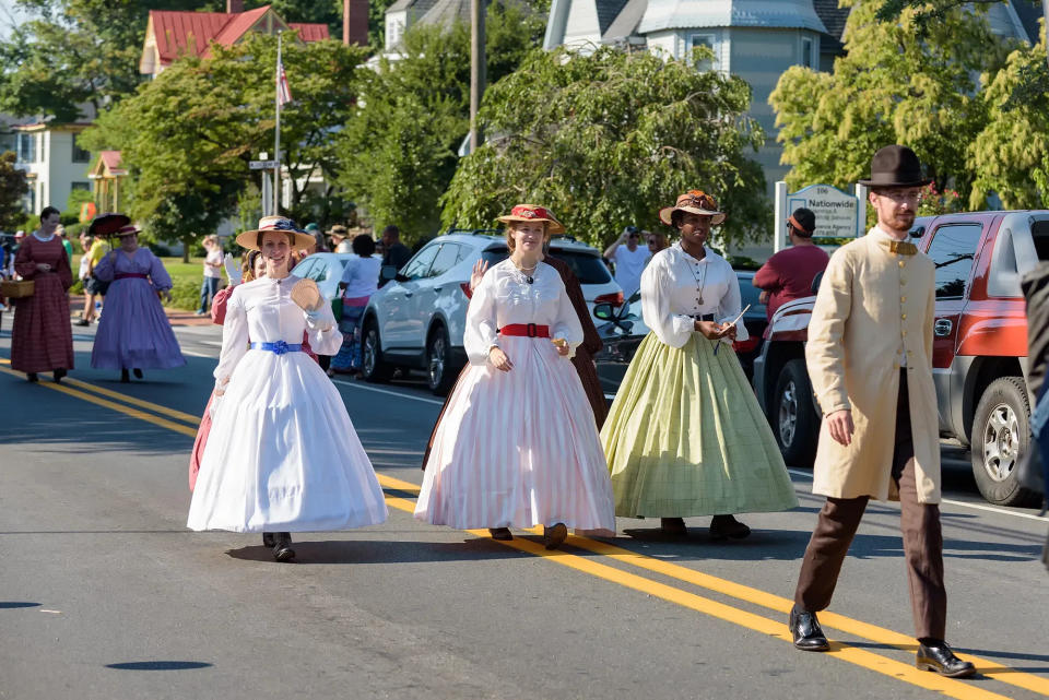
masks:
[[[69,322],[66,290],[73,284],[62,239],[55,234],[59,211],[40,212],[40,229],[26,236],[14,257],[14,272],[34,282],[33,296],[17,299],[11,334],[11,369],[25,372],[30,381],[37,372],[55,372],[61,381],[73,368],[73,329]]]

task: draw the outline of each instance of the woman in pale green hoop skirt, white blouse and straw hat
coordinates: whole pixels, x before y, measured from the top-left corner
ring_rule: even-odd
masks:
[[[732,341],[747,337],[739,281],[705,246],[724,214],[712,197],[692,190],[659,217],[681,240],[641,275],[651,332],[601,430],[615,514],[660,518],[672,535],[687,533],[684,518],[714,515],[711,537],[746,537],[750,527],[734,513],[789,510],[798,499],[732,352]]]

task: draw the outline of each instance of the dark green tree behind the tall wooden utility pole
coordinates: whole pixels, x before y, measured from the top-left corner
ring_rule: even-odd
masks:
[[[523,4],[488,7],[490,82],[514,71],[539,45],[544,22]],[[438,199],[470,129],[469,27],[416,25],[404,34],[401,54],[362,79],[360,110],[339,137],[340,183],[365,205],[374,225],[397,224],[412,241],[438,226]]]

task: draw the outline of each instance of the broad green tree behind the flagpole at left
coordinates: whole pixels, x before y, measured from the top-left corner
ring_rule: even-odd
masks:
[[[83,133],[92,151],[116,149],[129,168],[130,214],[160,238],[190,241],[233,215],[260,177],[248,161],[273,150],[276,43],[255,35],[213,58],[185,58]],[[334,179],[331,134],[351,117],[364,50],[338,41],[285,41],[295,102],[282,109],[290,213],[299,216],[310,175]]]

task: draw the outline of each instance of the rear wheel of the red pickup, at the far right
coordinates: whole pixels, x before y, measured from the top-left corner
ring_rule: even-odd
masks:
[[[969,438],[973,476],[995,506],[1035,505],[1038,495],[1019,484],[1019,458],[1030,449],[1030,403],[1021,377],[995,379],[983,391]]]

